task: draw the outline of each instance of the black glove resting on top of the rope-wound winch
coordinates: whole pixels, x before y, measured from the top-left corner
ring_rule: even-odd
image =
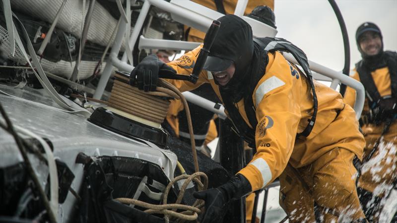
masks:
[[[130,84],[143,91],[155,91],[158,82],[158,74],[163,72],[176,73],[176,71],[159,60],[156,55],[149,55],[142,59],[131,71]]]

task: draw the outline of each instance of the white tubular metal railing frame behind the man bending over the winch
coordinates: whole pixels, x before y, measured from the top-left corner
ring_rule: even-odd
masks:
[[[135,23],[129,41],[129,46],[133,47],[135,45],[151,5],[170,12],[174,19],[179,20],[180,22],[182,21],[184,24],[191,25],[195,28],[198,28],[199,30],[204,30],[204,31],[210,26],[213,19],[222,15],[217,11],[206,8],[193,1],[171,0],[171,2],[167,2],[160,0],[145,0],[145,2],[142,5],[142,9],[139,13],[138,19]],[[242,16],[246,6],[247,6],[247,1],[239,0],[234,14],[238,16]],[[198,11],[200,11],[201,13],[198,13]],[[257,36],[265,35],[263,33],[258,33],[257,31],[258,24],[255,24],[255,22],[251,21],[250,20],[251,18],[248,18],[246,16],[242,16],[242,17],[253,26],[254,34],[256,34]],[[133,65],[128,64],[126,53],[124,53],[122,59],[119,59],[117,57],[117,55],[120,52],[125,31],[127,30],[127,25],[129,25],[126,23],[126,21],[123,18],[120,19],[122,21],[120,23],[119,29],[117,30],[115,43],[112,47],[112,51],[104,68],[104,71],[102,72],[102,76],[98,83],[98,87],[94,93],[95,99],[100,99],[102,97],[106,84],[110,78],[110,74],[112,72],[113,66],[116,66],[117,68],[123,71],[131,71],[134,68]],[[272,28],[268,29],[269,27],[263,23],[262,25],[263,26],[261,28],[265,29],[265,31],[263,32],[267,33],[267,36],[275,36],[276,31],[274,32],[274,29]],[[165,50],[193,50],[199,44],[200,43],[185,42],[185,41],[147,39],[144,38],[143,36],[140,36],[138,49],[161,48]],[[284,56],[291,62],[296,63],[296,60],[292,56],[288,54],[284,54]],[[364,106],[364,99],[365,99],[364,87],[362,86],[362,84],[359,83],[358,81],[355,81],[352,78],[343,75],[340,72],[331,70],[330,68],[322,66],[313,61],[309,61],[309,64],[310,64],[310,68],[313,71],[318,72],[318,73],[314,73],[315,79],[331,81],[331,88],[333,89],[336,89],[339,83],[343,83],[346,84],[347,86],[354,88],[357,91],[357,98],[356,98],[356,104],[354,105],[354,110],[356,111],[356,116],[359,117],[361,114],[361,110]],[[205,105],[207,102],[199,96],[188,97],[188,101],[199,105]],[[223,112],[222,109],[216,110],[213,107],[209,107],[209,106],[205,106],[205,108],[210,111],[214,111],[221,117],[225,117],[225,113]]]

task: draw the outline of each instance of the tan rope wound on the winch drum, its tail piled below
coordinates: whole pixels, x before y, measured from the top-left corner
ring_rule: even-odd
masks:
[[[204,202],[202,200],[196,200],[192,206],[182,205],[181,202],[190,182],[194,181],[199,190],[206,190],[208,186],[208,177],[205,173],[199,172],[192,119],[185,97],[175,86],[162,79],[159,79],[160,86],[157,86],[156,91],[144,92],[131,86],[129,84],[129,77],[127,76],[116,74],[115,78],[108,105],[140,118],[162,123],[170,106],[169,100],[175,98],[182,101],[188,119],[192,154],[196,171],[192,175],[184,173],[171,180],[164,190],[163,204],[161,205],[149,204],[131,198],[117,198],[115,200],[124,204],[132,204],[146,208],[147,210],[144,212],[148,214],[163,214],[166,223],[168,223],[170,219],[179,219],[181,221],[197,220],[198,215],[201,213],[200,209],[204,206]],[[177,200],[175,204],[167,204],[168,193],[175,182],[179,180],[184,180],[184,184],[180,189]],[[203,180],[203,182],[201,182],[201,180]],[[182,212],[177,212],[177,210],[182,210]]]

